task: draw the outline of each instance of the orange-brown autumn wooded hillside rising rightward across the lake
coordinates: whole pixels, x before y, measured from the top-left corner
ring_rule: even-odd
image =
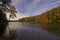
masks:
[[[55,13],[57,20],[59,21],[59,19],[60,19],[60,7],[53,8],[53,9],[51,9],[45,13],[42,13],[40,15],[22,18],[22,19],[19,19],[18,21],[47,24],[48,22],[51,22],[51,20],[48,20],[48,19],[49,19],[49,17],[51,17],[50,14],[53,15],[53,13]]]

